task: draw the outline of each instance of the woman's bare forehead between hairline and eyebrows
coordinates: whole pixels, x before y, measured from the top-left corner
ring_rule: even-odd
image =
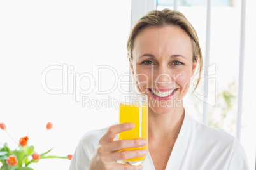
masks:
[[[146,27],[134,40],[132,55],[138,58],[143,53],[154,56],[183,55],[192,57],[192,41],[187,32],[178,26]]]

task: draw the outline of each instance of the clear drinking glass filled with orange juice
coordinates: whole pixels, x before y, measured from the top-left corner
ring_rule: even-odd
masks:
[[[120,102],[119,123],[133,122],[134,128],[119,134],[118,140],[145,138],[148,140],[148,96],[142,94],[122,95]],[[148,145],[124,150],[148,150]],[[139,165],[146,156],[122,160],[125,164]]]

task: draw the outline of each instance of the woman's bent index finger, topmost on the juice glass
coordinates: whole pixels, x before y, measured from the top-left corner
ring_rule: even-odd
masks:
[[[113,139],[115,138],[115,136],[117,136],[118,133],[121,133],[123,131],[129,131],[133,128],[134,128],[134,123],[130,123],[130,122],[115,124],[113,126],[110,126],[110,128],[108,128],[108,131],[103,135],[101,140],[106,142],[113,141]]]

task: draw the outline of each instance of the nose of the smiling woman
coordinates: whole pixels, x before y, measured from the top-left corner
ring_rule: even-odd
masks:
[[[154,70],[154,82],[158,86],[169,87],[168,85],[172,84],[173,79],[171,77],[171,70],[167,65],[159,65],[157,69]]]

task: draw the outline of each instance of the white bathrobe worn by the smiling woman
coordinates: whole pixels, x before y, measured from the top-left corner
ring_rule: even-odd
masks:
[[[82,136],[75,150],[69,170],[88,169],[99,139],[108,127],[90,131]],[[115,138],[117,140],[117,137]],[[145,170],[155,170],[148,152],[143,164]],[[248,168],[245,150],[231,134],[214,129],[192,119],[187,112],[174,144],[166,169],[241,169]]]

